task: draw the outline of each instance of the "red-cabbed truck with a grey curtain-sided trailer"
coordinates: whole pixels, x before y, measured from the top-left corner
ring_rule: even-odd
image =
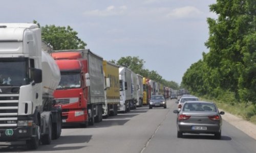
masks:
[[[55,50],[52,57],[61,75],[54,97],[62,109],[62,124],[87,127],[102,121],[103,58],[90,49]]]

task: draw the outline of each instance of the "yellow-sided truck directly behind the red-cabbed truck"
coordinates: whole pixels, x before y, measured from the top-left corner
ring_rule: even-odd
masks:
[[[103,116],[115,116],[118,113],[118,105],[120,105],[119,66],[104,60],[103,71],[106,83]]]

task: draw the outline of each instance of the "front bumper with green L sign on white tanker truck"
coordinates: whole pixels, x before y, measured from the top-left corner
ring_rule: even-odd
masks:
[[[16,129],[1,129],[0,141],[21,141],[33,138],[35,128],[32,126],[20,126]]]

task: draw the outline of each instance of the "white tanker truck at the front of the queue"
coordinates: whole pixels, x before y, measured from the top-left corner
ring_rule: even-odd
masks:
[[[33,23],[0,23],[0,141],[26,141],[29,149],[61,134],[61,108],[53,92],[60,71],[42,50]]]

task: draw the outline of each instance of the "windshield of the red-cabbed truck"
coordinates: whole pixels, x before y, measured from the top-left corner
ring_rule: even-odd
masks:
[[[80,73],[61,73],[57,89],[63,88],[81,88]]]

